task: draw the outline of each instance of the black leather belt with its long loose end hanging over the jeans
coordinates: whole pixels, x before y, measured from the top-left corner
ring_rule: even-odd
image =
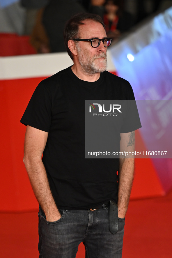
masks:
[[[110,201],[105,204],[101,204],[91,208],[90,211],[95,211],[97,209],[109,206],[109,230],[112,234],[118,232],[118,206],[115,202]]]

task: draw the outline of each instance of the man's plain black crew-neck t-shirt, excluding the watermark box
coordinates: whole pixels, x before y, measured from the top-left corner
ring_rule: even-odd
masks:
[[[84,158],[84,102],[89,99],[134,100],[134,94],[129,82],[107,71],[86,82],[69,67],[40,82],[20,121],[49,133],[42,161],[59,208],[117,202],[119,160]],[[141,127],[139,116],[136,120],[129,131]]]

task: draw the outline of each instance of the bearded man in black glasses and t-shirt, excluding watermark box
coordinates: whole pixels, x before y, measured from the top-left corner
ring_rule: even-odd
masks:
[[[74,65],[38,85],[21,119],[27,125],[24,164],[40,205],[40,257],[73,258],[83,242],[86,257],[119,258],[134,159],[119,164],[84,158],[84,100],[134,99],[134,94],[127,81],[105,71],[111,40],[99,16],[72,17],[64,40]],[[129,132],[122,131],[127,150],[134,149],[133,131],[139,127],[138,118],[125,129]],[[117,229],[109,225],[110,200],[114,207],[118,202]]]

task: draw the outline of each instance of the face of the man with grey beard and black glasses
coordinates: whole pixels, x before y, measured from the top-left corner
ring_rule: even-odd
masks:
[[[92,20],[83,21],[84,25],[79,26],[79,38],[106,38],[106,32],[99,22]],[[77,57],[84,73],[95,74],[104,72],[107,68],[106,50],[103,42],[96,48],[90,42],[79,41],[77,43]]]

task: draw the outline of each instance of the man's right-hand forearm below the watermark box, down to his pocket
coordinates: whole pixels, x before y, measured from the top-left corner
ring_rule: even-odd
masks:
[[[132,182],[134,178],[134,158],[120,159],[118,171],[118,216],[124,218],[127,212]]]

